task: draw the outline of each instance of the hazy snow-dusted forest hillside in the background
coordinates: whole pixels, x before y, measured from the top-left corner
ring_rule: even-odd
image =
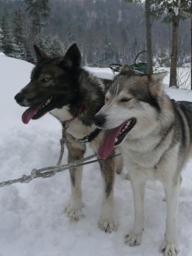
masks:
[[[76,42],[83,64],[134,62],[146,50],[144,4],[123,0],[0,0],[0,51],[34,62],[33,44],[61,56]],[[153,62],[170,66],[171,24],[152,19]],[[144,54],[145,59],[145,54]],[[190,21],[181,20],[179,66],[190,63]]]

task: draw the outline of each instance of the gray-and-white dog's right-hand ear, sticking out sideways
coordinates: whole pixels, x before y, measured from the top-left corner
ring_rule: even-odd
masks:
[[[147,76],[148,85],[149,85],[149,91],[154,96],[160,96],[162,95],[163,90],[163,83],[162,80],[167,76],[168,72],[162,72],[162,73],[155,73],[151,76]]]

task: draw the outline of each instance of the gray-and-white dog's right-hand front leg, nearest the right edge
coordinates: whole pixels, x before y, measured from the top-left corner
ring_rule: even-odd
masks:
[[[179,252],[176,230],[180,183],[180,176],[178,176],[177,180],[166,180],[165,182],[162,182],[167,202],[166,231],[164,241],[161,245],[161,251],[164,252],[165,256],[175,256]]]

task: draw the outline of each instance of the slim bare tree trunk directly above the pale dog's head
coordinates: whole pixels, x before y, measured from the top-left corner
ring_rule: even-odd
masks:
[[[151,1],[145,0],[147,73],[152,74]]]

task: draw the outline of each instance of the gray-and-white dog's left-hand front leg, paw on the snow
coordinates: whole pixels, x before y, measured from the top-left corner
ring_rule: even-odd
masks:
[[[144,231],[144,194],[146,177],[135,171],[129,172],[132,192],[134,196],[135,219],[134,227],[130,234],[126,235],[125,242],[130,246],[141,244],[142,232]]]

